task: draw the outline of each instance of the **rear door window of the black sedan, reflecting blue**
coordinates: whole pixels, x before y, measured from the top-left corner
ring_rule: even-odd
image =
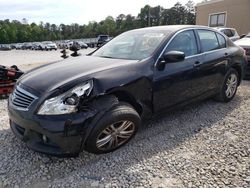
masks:
[[[209,30],[197,30],[203,52],[209,52],[220,48],[215,32]]]

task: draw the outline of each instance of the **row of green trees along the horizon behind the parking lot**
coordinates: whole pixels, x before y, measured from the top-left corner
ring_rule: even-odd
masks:
[[[100,22],[91,21],[85,25],[77,23],[56,25],[43,22],[28,24],[26,19],[0,20],[0,44],[94,38],[99,34],[117,36],[136,28],[179,24],[195,24],[193,1],[190,0],[185,5],[178,2],[168,9],[146,5],[141,8],[137,16],[131,14],[120,14],[116,18],[108,16]]]

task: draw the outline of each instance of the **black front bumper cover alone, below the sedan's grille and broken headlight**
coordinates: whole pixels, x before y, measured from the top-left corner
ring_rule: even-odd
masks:
[[[58,157],[77,156],[87,136],[91,111],[69,115],[41,116],[9,107],[13,133],[34,151]]]

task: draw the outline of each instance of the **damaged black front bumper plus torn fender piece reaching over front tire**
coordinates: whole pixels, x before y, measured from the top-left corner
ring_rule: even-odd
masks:
[[[78,113],[38,115],[38,103],[32,104],[28,111],[21,111],[13,106],[11,98],[8,112],[13,133],[30,149],[58,157],[78,156],[95,123],[118,104],[114,96],[99,96],[82,105]]]

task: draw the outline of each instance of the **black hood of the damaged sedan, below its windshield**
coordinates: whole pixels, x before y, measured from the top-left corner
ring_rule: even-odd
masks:
[[[94,56],[69,58],[51,63],[24,74],[18,84],[40,93],[52,91],[78,78],[91,78],[91,74],[137,62],[137,60],[109,59]],[[105,73],[104,73],[105,74]]]

